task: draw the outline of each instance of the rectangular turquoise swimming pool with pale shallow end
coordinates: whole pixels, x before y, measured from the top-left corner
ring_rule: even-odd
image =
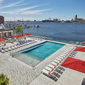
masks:
[[[14,57],[28,65],[35,66],[63,46],[64,44],[61,43],[45,41],[14,53]]]

